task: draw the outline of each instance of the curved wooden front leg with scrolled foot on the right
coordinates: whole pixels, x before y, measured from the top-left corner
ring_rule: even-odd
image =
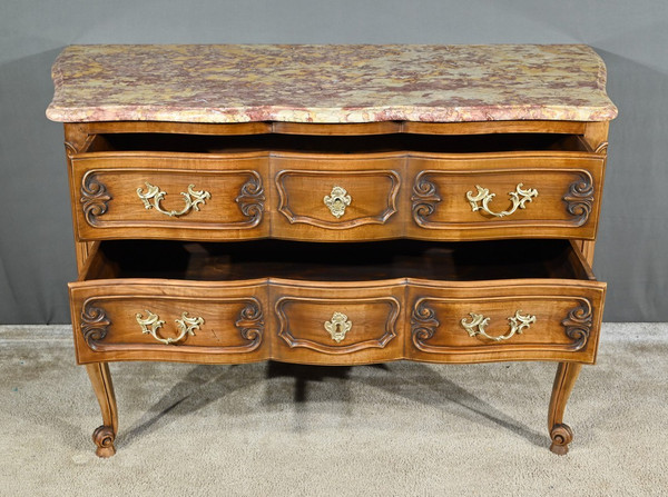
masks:
[[[557,376],[554,377],[548,414],[548,429],[552,439],[550,450],[560,456],[568,453],[568,445],[573,439],[573,431],[570,426],[563,424],[563,410],[580,369],[582,369],[582,365],[578,362],[559,362]]]

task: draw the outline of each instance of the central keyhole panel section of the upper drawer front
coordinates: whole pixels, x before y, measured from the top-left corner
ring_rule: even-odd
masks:
[[[405,159],[273,157],[273,235],[363,240],[402,235]]]

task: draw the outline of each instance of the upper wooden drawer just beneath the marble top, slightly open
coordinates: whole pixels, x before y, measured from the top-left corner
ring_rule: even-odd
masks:
[[[596,237],[606,153],[577,136],[97,136],[79,240]]]

